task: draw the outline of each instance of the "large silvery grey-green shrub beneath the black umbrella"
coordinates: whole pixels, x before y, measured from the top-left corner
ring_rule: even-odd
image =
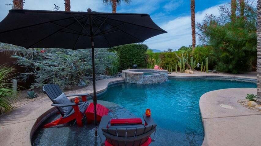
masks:
[[[107,49],[95,49],[95,73],[104,74],[106,68],[111,68],[117,58],[115,55]],[[47,49],[46,52],[22,49],[12,57],[18,59],[17,64],[27,68],[25,73],[21,73],[23,80],[29,75],[35,77],[32,88],[54,83],[62,89],[69,89],[92,80],[91,49]]]

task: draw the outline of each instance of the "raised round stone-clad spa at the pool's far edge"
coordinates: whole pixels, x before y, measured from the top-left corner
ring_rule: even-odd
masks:
[[[125,82],[134,84],[157,84],[169,80],[167,70],[156,69],[126,69],[122,71],[122,78]]]

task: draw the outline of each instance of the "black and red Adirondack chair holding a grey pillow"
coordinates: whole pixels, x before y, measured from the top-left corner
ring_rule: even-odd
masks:
[[[86,109],[87,109],[87,107],[89,105],[89,103],[86,100],[86,96],[88,95],[88,93],[66,95],[67,97],[70,97],[70,96],[81,96],[83,102],[79,102],[79,103],[72,102],[72,103],[65,103],[65,104],[55,104],[54,99],[56,99],[58,96],[60,96],[62,94],[62,91],[59,88],[59,86],[58,85],[54,85],[54,84],[44,85],[43,86],[43,92],[45,94],[47,94],[47,96],[53,102],[53,104],[51,106],[55,106],[58,109],[59,113],[62,115],[59,119],[54,120],[53,122],[44,125],[44,128],[56,126],[56,125],[63,124],[63,123],[68,123],[68,122],[70,122],[72,120],[75,120],[75,119],[76,119],[76,123],[77,123],[78,126],[83,126],[82,119],[84,117],[84,112],[86,111]],[[65,115],[65,113],[62,112],[61,108],[62,107],[67,107],[67,106],[72,106],[73,108],[69,111],[69,113],[67,113]]]

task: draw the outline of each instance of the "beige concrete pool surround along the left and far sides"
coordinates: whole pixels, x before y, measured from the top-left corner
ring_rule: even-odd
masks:
[[[222,75],[229,78],[237,78],[236,76],[231,77],[231,75]],[[198,78],[198,77],[222,77],[219,75],[197,75],[197,76],[179,76],[179,75],[168,75],[168,78]],[[239,79],[256,79],[248,77],[240,77]],[[106,92],[110,85],[124,82],[123,78],[110,78],[96,81],[96,91],[97,95]],[[93,94],[92,85],[89,85],[82,89],[77,89],[74,91],[65,92],[66,94],[71,93],[84,93],[88,92],[90,95]],[[74,99],[76,97],[71,97]],[[90,98],[90,96],[88,97]],[[40,107],[39,107],[40,103]],[[41,123],[56,112],[55,107],[51,107],[51,101],[48,97],[39,99],[35,102],[28,103],[12,112],[0,116],[0,146],[10,145],[10,146],[30,146],[31,138],[35,130],[41,125]]]

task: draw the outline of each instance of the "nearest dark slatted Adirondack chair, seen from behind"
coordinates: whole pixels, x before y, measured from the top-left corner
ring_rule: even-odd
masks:
[[[143,115],[145,124],[108,126],[109,116],[103,116],[98,128],[102,145],[105,146],[148,146],[154,141],[156,124],[152,117]],[[151,138],[153,135],[153,138]]]

